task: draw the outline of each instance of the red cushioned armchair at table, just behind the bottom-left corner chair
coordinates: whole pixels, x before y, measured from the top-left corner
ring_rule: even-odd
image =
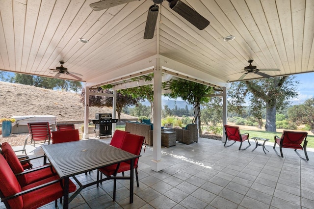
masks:
[[[21,186],[25,186],[30,183],[38,182],[40,180],[52,177],[57,175],[50,164],[39,166],[37,168],[31,169],[31,172],[24,171],[23,166],[20,163],[20,160],[15,155],[12,147],[7,143],[2,143],[2,153],[3,157],[6,159],[8,165],[12,169],[14,174],[20,174],[17,176],[17,179]],[[44,157],[45,156],[41,156]],[[31,159],[36,159],[40,157],[34,157]],[[30,170],[29,170],[30,171]]]

